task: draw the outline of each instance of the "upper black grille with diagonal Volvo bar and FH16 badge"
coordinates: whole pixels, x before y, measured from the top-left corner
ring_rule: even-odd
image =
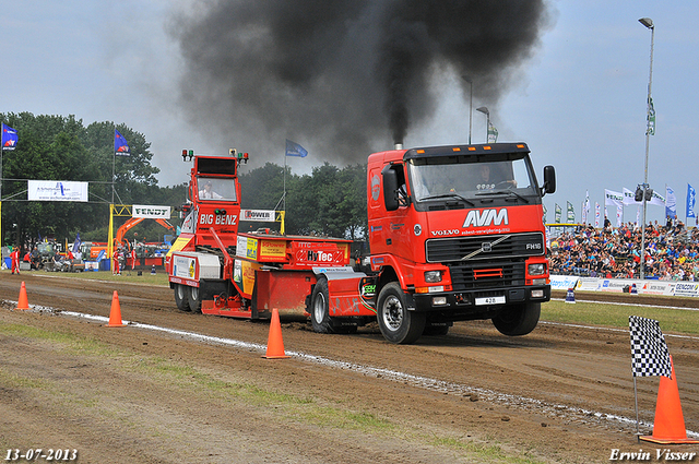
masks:
[[[434,238],[427,240],[425,246],[427,262],[445,264],[450,261],[536,257],[544,255],[546,252],[542,233]]]

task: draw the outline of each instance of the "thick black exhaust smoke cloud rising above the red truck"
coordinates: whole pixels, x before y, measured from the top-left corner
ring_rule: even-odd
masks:
[[[430,118],[434,73],[467,75],[474,98],[496,105],[549,24],[543,0],[201,5],[169,27],[188,70],[180,96],[192,123],[223,146],[279,158],[294,138],[343,163],[364,162],[388,133],[403,143]]]

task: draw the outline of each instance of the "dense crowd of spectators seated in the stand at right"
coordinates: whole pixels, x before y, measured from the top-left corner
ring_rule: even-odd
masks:
[[[549,238],[552,275],[640,278],[641,228],[633,223],[602,229],[580,226]],[[644,277],[699,281],[699,228],[677,221],[645,226]]]

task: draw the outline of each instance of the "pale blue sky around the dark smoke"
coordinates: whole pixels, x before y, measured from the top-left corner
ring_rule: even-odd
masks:
[[[166,33],[174,11],[193,1],[104,0],[55,2],[0,0],[0,112],[75,115],[85,124],[112,120],[145,134],[163,186],[187,180],[182,148],[223,154],[226,134],[192,127],[177,99],[183,62]],[[699,188],[699,3],[695,1],[552,1],[555,21],[542,35],[532,59],[497,106],[488,106],[499,141],[524,141],[540,178],[554,165],[558,191],[545,205],[570,201],[580,218],[585,191],[603,203],[604,189],[635,190],[643,181],[645,95],[651,33],[638,20],[655,24],[653,102],[656,134],[650,139],[649,183],[675,190],[685,216],[687,183]],[[196,10],[192,10],[196,11]],[[413,128],[406,146],[464,143],[469,100],[459,76],[433,83],[441,95],[429,123]],[[487,105],[474,102],[473,108]],[[473,111],[473,142],[485,140],[485,116]],[[310,155],[289,160],[295,172],[322,164]],[[390,141],[376,150],[390,147]],[[280,147],[280,154],[282,153]],[[251,154],[254,155],[254,154]],[[264,158],[264,156],[262,156]],[[178,163],[179,160],[179,163]],[[272,159],[283,164],[283,156]],[[256,167],[251,164],[250,168]],[[611,212],[611,214],[613,214]],[[662,207],[649,206],[662,221]],[[627,206],[625,219],[636,218]]]

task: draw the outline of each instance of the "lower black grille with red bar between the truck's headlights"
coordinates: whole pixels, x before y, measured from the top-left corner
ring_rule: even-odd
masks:
[[[447,263],[454,292],[479,288],[523,286],[523,260],[497,260],[488,263]]]

